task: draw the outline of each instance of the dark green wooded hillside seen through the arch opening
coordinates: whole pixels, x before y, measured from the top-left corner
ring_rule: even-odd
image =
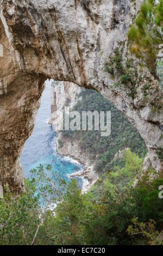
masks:
[[[104,173],[108,169],[113,169],[115,165],[124,167],[123,159],[114,159],[118,150],[130,148],[132,152],[140,157],[147,153],[146,144],[139,135],[139,132],[131,125],[127,117],[119,111],[111,102],[95,90],[84,89],[73,110],[78,111],[82,116],[82,111],[111,111],[111,135],[102,137],[101,131],[61,131],[63,136],[72,139],[78,139],[80,148],[88,153],[95,160],[95,170],[98,173]],[[73,135],[73,136],[72,136]],[[64,141],[64,139],[62,140]]]

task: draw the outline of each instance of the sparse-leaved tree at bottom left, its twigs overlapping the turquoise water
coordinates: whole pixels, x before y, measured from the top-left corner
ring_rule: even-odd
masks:
[[[51,166],[40,164],[31,173],[31,179],[25,180],[26,191],[21,196],[5,188],[4,198],[0,200],[0,245],[41,243],[42,223],[48,215],[53,216],[49,208],[62,196],[65,181]]]

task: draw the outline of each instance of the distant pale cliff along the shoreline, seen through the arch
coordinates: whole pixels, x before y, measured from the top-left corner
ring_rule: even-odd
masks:
[[[82,150],[79,144],[79,140],[72,139],[69,136],[63,136],[59,132],[59,126],[62,119],[62,113],[69,113],[82,97],[79,96],[82,92],[82,88],[77,84],[69,82],[53,82],[51,87],[51,117],[48,121],[49,124],[54,126],[57,132],[57,151],[62,156],[70,156],[78,162],[82,163],[84,170],[78,173],[73,173],[70,176],[80,176],[86,178],[89,183],[85,184],[82,188],[83,192],[87,192],[90,187],[97,181],[98,174],[94,170],[95,160],[91,159],[91,155]]]

